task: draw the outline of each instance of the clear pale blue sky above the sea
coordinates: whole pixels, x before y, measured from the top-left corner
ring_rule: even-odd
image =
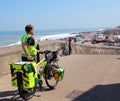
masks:
[[[120,0],[0,0],[0,30],[108,28],[120,25]]]

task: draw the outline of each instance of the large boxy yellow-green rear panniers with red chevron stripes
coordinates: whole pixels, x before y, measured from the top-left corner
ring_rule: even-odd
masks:
[[[12,86],[18,87],[17,73],[22,73],[23,88],[33,88],[38,84],[35,62],[16,62],[10,64]]]

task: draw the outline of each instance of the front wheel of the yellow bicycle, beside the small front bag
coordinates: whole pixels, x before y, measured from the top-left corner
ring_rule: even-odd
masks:
[[[58,68],[58,67],[56,65],[51,65],[51,66],[47,67],[45,70],[45,81],[46,81],[47,86],[50,89],[54,89],[58,84],[58,81],[56,81],[54,78],[54,69],[55,68]]]

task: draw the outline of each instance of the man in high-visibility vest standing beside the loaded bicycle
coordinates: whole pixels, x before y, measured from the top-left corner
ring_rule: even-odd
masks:
[[[40,51],[35,47],[35,40],[34,40],[34,27],[32,25],[25,26],[26,34],[22,36],[21,43],[22,43],[22,61],[31,61],[35,60],[35,56],[37,52]],[[42,87],[42,80],[40,80],[40,90],[43,91]]]

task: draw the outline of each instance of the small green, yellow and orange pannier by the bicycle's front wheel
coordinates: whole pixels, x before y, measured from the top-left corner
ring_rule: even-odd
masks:
[[[55,68],[54,70],[54,78],[56,81],[62,81],[63,78],[64,78],[64,68],[62,67],[58,67],[58,68]]]

